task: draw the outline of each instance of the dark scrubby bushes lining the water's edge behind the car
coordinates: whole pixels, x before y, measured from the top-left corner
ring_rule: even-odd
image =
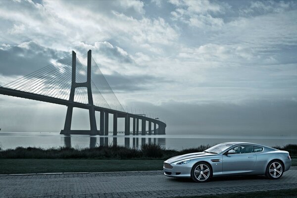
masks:
[[[172,156],[190,152],[201,152],[207,148],[199,146],[197,148],[183,149],[180,151],[161,148],[159,145],[146,144],[141,149],[125,148],[122,146],[100,146],[96,148],[15,148],[0,150],[0,158],[11,159],[167,159]],[[276,147],[287,150],[292,157],[297,157],[297,145],[287,145]]]

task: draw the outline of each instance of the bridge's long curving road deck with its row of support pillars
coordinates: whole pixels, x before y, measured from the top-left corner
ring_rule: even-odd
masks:
[[[38,100],[38,101],[44,101],[44,102],[49,102],[49,103],[54,103],[54,104],[61,104],[61,105],[66,105],[66,106],[71,105],[73,107],[83,108],[83,109],[90,109],[90,107],[91,107],[90,104],[84,104],[84,103],[65,100],[65,99],[57,99],[57,98],[53,98],[53,97],[23,92],[23,91],[19,91],[19,90],[8,89],[8,88],[4,88],[4,87],[0,87],[0,94],[18,97],[18,98],[24,98],[24,99],[33,99],[33,100]],[[138,135],[138,133],[139,133],[138,128],[137,128],[138,123],[135,124],[135,122],[136,121],[139,122],[139,120],[142,120],[142,130],[141,130],[142,135],[147,134],[146,133],[146,131],[147,131],[146,130],[146,121],[148,121],[149,124],[151,124],[151,123],[154,124],[153,129],[151,129],[151,125],[148,125],[148,134],[151,134],[151,132],[154,132],[154,134],[165,134],[166,124],[160,120],[148,118],[148,117],[145,117],[142,115],[136,115],[136,114],[132,114],[132,113],[103,108],[103,107],[99,107],[99,106],[94,106],[94,108],[95,108],[95,111],[100,111],[100,112],[102,111],[104,113],[111,113],[113,115],[116,115],[116,117],[114,117],[114,119],[121,118],[121,117],[129,118],[129,119],[133,118],[133,132],[132,132],[132,134],[134,134],[134,135]],[[125,121],[125,135],[131,134],[129,121]],[[108,122],[108,119],[107,119],[107,122]],[[101,121],[100,121],[100,123],[101,123]],[[156,128],[156,125],[158,125],[158,128]],[[114,122],[114,127],[115,128],[117,127],[117,121],[116,121],[116,123]],[[72,131],[72,134],[75,134],[74,130],[71,130],[71,131]],[[107,131],[107,133],[106,133],[106,131]],[[88,133],[88,131],[86,131],[86,134],[87,133]],[[78,131],[78,134],[81,134],[81,131]],[[98,131],[98,134],[103,135],[103,131],[102,132]],[[114,130],[113,135],[116,135],[116,134],[117,134],[117,130]],[[107,127],[107,130],[105,130],[105,135],[108,135],[108,127]]]

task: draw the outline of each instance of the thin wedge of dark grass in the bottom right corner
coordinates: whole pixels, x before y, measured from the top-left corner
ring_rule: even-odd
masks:
[[[186,198],[297,198],[297,189],[280,191],[262,191],[253,193],[230,193],[222,195],[205,195],[193,197],[191,196]]]

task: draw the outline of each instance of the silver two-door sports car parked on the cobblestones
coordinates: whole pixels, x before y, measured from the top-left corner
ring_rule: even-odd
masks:
[[[179,155],[164,161],[168,177],[206,182],[211,177],[262,175],[279,179],[291,167],[289,152],[251,143],[222,143],[203,152]]]

